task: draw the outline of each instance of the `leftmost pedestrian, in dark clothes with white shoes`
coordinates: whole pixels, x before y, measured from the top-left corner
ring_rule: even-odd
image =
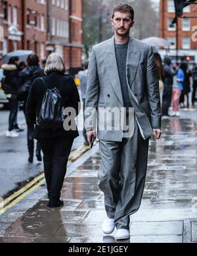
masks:
[[[3,74],[5,76],[3,80],[3,88],[7,99],[9,100],[10,115],[9,115],[9,130],[6,133],[7,137],[16,138],[18,137],[18,132],[20,128],[18,124],[15,123],[16,116],[18,112],[18,100],[17,100],[17,91],[18,91],[18,76],[19,76],[19,58],[11,57],[8,64],[3,64],[1,68],[3,69]],[[19,129],[16,132],[15,129]]]

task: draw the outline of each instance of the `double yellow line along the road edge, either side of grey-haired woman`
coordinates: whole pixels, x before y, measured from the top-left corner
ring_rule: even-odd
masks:
[[[89,149],[89,146],[81,146],[77,150],[70,154],[69,162],[73,163],[76,161],[83,153]],[[36,176],[31,182],[26,184],[23,188],[13,193],[11,196],[7,197],[4,201],[0,203],[0,215],[3,215],[7,210],[16,205],[20,200],[22,200],[26,195],[30,194],[33,190],[45,183],[45,174],[41,173]]]

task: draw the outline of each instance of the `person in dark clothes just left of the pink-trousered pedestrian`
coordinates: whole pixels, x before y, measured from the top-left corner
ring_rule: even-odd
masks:
[[[173,76],[175,76],[177,70],[173,69],[171,65],[171,57],[166,56],[164,58],[164,92],[162,101],[162,115],[169,116],[169,107],[172,99],[172,86]]]

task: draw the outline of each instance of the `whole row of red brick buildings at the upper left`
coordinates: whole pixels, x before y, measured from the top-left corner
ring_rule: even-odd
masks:
[[[82,0],[0,0],[0,26],[0,55],[28,49],[45,59],[55,51],[67,69],[81,66]]]

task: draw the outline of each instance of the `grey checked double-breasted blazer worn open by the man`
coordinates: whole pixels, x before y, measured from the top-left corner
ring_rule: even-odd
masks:
[[[152,47],[134,38],[129,38],[127,51],[127,86],[142,138],[149,139],[152,129],[161,128],[162,122],[158,68]],[[87,131],[96,130],[99,107],[124,107],[114,36],[95,45],[91,53],[85,101]],[[99,130],[98,126],[97,133],[100,140],[122,141],[123,138],[122,129]]]

